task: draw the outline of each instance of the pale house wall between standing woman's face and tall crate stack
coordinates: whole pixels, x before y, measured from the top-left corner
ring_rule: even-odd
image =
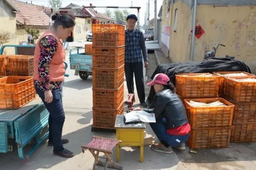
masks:
[[[91,20],[91,18],[76,18],[76,25],[74,28],[74,42],[86,40],[86,34],[92,30],[92,25],[88,24],[88,20]]]

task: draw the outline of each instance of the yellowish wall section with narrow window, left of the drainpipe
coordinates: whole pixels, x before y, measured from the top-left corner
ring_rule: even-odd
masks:
[[[177,9],[177,28],[174,32],[175,10]],[[190,7],[182,1],[177,1],[170,7],[171,34],[169,57],[173,62],[188,61],[188,51],[190,50],[190,30],[191,30]]]

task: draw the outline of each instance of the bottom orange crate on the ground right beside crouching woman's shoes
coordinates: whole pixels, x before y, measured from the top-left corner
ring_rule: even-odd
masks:
[[[191,149],[227,148],[231,128],[191,128],[188,146]]]

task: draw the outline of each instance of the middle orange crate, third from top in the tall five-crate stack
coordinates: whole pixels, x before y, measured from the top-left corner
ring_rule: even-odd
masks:
[[[119,69],[92,68],[92,87],[118,89],[124,83],[124,66]]]

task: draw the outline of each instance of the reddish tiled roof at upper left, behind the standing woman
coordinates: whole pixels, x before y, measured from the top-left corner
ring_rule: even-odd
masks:
[[[25,20],[28,26],[47,27],[49,25],[50,17],[37,6],[16,0],[11,1],[20,10],[20,12],[16,14],[18,24],[23,25]]]

